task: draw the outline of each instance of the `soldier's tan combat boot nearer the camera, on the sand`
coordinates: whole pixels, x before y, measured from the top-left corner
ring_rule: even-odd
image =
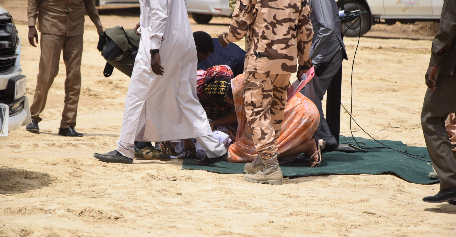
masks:
[[[278,153],[275,153],[275,156],[264,160],[264,169],[256,174],[245,174],[244,180],[254,183],[268,183],[274,185],[282,185],[282,170],[279,166],[279,161],[277,161]]]

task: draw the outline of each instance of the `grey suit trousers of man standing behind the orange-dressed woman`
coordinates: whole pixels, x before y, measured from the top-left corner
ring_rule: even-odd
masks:
[[[321,101],[323,100],[323,96],[325,96],[326,90],[328,90],[332,78],[336,75],[337,71],[339,71],[339,68],[342,65],[342,61],[343,52],[341,50],[329,64],[326,71],[321,76],[315,76],[312,79],[312,82],[304,86],[304,88],[302,88],[300,91],[304,96],[315,103],[318,111],[320,112],[320,125],[318,125],[318,128],[314,133],[314,138],[316,140],[323,139],[326,141],[326,146],[337,144],[337,141],[334,136],[331,135],[329,126],[326,123],[323,108],[321,107]]]

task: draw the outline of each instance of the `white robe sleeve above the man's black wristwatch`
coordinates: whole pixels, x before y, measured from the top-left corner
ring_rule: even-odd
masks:
[[[166,21],[168,20],[168,0],[149,0],[150,24],[147,30],[150,32],[151,49],[159,49],[161,41],[165,40]]]

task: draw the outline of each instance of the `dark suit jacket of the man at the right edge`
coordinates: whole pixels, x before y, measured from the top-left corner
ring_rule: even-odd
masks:
[[[445,53],[437,52],[445,47]],[[438,73],[453,75],[456,66],[456,1],[444,0],[440,16],[439,33],[432,41],[429,65],[438,66]]]

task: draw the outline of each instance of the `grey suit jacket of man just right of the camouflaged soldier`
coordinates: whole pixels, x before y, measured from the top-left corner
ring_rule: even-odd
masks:
[[[345,45],[339,31],[339,9],[335,0],[307,0],[311,5],[310,20],[313,25],[313,39],[309,57],[312,64],[327,62],[342,45],[347,59]]]

